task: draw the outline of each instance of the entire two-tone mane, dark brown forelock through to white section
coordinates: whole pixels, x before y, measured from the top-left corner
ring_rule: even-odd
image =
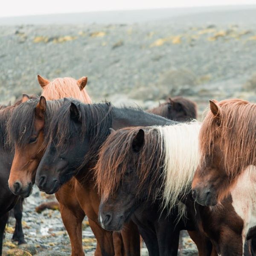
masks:
[[[102,145],[95,171],[103,200],[116,192],[129,164],[134,161],[131,145],[139,129],[141,127],[120,129]],[[161,199],[163,207],[171,209],[178,205],[178,199],[190,191],[198,165],[199,129],[200,124],[195,121],[143,127],[144,144],[138,153],[135,174],[137,196],[146,189],[148,199]]]

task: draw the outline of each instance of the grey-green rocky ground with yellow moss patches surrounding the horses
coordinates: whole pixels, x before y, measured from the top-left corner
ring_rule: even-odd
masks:
[[[230,22],[228,17],[222,23],[180,20],[0,26],[0,103],[14,102],[21,93],[40,94],[37,74],[47,79],[88,76],[86,88],[93,101],[107,99],[116,106],[146,109],[180,95],[195,100],[201,114],[212,98],[256,102],[255,24]],[[35,212],[41,202],[51,200],[34,188],[24,204],[27,245],[11,242],[11,218],[4,255],[70,255],[60,213]],[[83,246],[86,255],[93,255],[96,240],[86,218]],[[186,234],[180,255],[196,255]]]

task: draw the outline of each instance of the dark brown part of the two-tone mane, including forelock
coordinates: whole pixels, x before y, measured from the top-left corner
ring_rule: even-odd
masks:
[[[135,153],[132,151],[132,142],[140,129],[142,128],[120,129],[111,134],[102,145],[99,160],[95,166],[96,183],[99,194],[102,195],[102,200],[106,200],[109,196],[113,195],[120,183],[122,183],[122,178],[129,164],[131,161],[134,162]],[[141,151],[137,153],[137,194],[143,189],[147,189],[148,197],[153,196],[156,198],[160,192],[157,189],[159,187],[157,183],[160,182],[159,177],[163,176],[159,175],[159,169],[162,169],[165,157],[162,150],[163,142],[159,141],[161,138],[160,134],[157,134],[159,130],[154,127],[143,127],[143,130],[145,131],[144,145]]]

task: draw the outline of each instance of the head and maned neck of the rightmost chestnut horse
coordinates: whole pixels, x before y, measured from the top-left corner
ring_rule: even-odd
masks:
[[[256,104],[242,99],[210,101],[199,136],[201,160],[192,183],[199,204],[229,195],[247,167],[256,164]]]

